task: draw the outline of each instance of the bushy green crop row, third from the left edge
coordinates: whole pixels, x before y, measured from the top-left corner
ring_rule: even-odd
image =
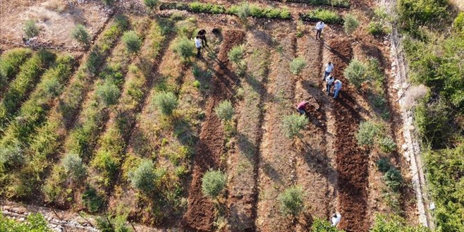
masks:
[[[57,58],[57,65],[48,69],[31,94],[30,99],[24,102],[18,116],[6,128],[0,145],[19,142],[26,144],[30,135],[46,120],[46,114],[53,105],[53,99],[62,93],[64,84],[69,80],[73,71],[75,60],[70,55]]]

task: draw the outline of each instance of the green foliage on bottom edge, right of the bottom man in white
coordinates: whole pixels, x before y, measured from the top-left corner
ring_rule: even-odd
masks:
[[[399,215],[382,215],[380,213],[375,214],[374,224],[371,228],[371,232],[393,232],[393,231],[404,231],[404,232],[429,232],[430,230],[423,226],[409,226],[409,223]]]

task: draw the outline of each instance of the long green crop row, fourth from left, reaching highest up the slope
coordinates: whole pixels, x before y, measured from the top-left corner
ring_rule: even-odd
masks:
[[[28,162],[6,180],[8,195],[30,195],[33,189],[42,183],[42,175],[48,167],[48,162],[53,158],[53,154],[57,153],[66,134],[65,120],[72,121],[78,113],[89,84],[98,74],[98,69],[105,57],[109,55],[111,46],[125,28],[127,28],[127,20],[123,17],[116,17],[114,23],[102,33],[102,37],[91,48],[86,60],[59,99],[55,110],[51,111],[46,122],[40,123],[35,134],[30,135],[30,143],[23,145],[22,148],[22,153]]]

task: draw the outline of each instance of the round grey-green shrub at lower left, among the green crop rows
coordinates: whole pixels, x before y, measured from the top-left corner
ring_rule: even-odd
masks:
[[[152,193],[157,188],[159,175],[154,168],[154,163],[149,159],[144,159],[137,168],[129,172],[129,179],[134,188],[143,193]]]

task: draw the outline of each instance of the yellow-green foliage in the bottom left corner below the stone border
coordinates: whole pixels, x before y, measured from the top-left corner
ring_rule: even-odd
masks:
[[[52,232],[40,213],[31,213],[25,222],[9,219],[0,213],[0,231],[2,232]]]

